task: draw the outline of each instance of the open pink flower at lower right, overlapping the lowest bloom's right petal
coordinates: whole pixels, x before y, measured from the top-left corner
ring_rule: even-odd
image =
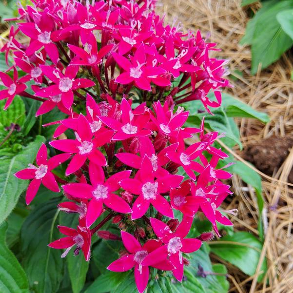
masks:
[[[174,265],[172,271],[176,279],[181,282],[183,277],[183,256],[182,253],[193,253],[201,246],[201,241],[195,238],[185,238],[189,233],[193,217],[183,217],[175,232],[172,232],[164,222],[150,218],[152,228],[157,237],[164,243],[142,261],[143,266],[153,266],[166,259]]]

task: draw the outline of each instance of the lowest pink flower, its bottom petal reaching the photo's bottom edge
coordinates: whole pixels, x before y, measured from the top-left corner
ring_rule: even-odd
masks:
[[[137,290],[139,293],[142,293],[148,284],[150,275],[149,266],[142,265],[142,261],[148,254],[160,247],[162,242],[158,240],[148,240],[143,246],[141,246],[132,234],[121,231],[121,237],[129,254],[112,262],[107,269],[113,272],[126,272],[134,267]],[[174,266],[168,259],[163,259],[161,262],[151,266],[164,271],[172,271],[174,269]]]

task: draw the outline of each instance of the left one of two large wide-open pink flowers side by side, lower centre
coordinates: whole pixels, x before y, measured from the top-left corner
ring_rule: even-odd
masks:
[[[70,183],[62,186],[64,191],[72,196],[91,198],[85,217],[87,227],[91,226],[101,214],[103,203],[118,213],[127,214],[132,212],[129,205],[114,193],[120,188],[118,183],[129,178],[131,171],[118,172],[105,181],[103,169],[100,166],[90,164],[89,174],[92,185]]]

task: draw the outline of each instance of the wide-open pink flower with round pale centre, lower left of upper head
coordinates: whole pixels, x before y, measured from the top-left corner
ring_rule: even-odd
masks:
[[[74,100],[73,91],[79,88],[87,88],[95,85],[95,82],[86,78],[76,78],[78,74],[78,66],[70,65],[66,68],[64,75],[57,68],[40,65],[43,74],[52,80],[55,84],[39,90],[36,96],[42,98],[59,97],[65,108],[69,109]]]

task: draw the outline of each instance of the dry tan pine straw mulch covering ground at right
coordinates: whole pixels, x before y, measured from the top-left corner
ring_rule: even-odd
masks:
[[[242,8],[241,0],[163,0],[162,2],[163,5],[158,10],[166,14],[166,23],[181,23],[184,29],[200,29],[205,36],[210,34],[210,39],[217,42],[222,49],[221,52],[216,52],[216,55],[230,59],[231,72],[235,70],[243,72],[243,77],[240,75],[237,76],[237,81],[232,80],[234,88],[229,92],[254,109],[266,112],[271,117],[271,121],[263,125],[254,119],[239,119],[241,140],[244,149],[260,145],[262,151],[268,153],[267,159],[270,165],[269,154],[275,150],[273,139],[282,143],[282,137],[293,134],[293,82],[290,81],[293,59],[290,53],[287,53],[268,69],[259,71],[256,76],[250,75],[250,47],[239,45],[239,40],[245,34],[246,23],[249,20],[248,9],[256,11],[260,3]],[[265,138],[267,139],[264,140]],[[259,216],[263,218],[265,242],[259,264],[266,257],[268,272],[264,282],[257,283],[257,276],[261,273],[260,265],[255,275],[248,277],[233,265],[225,263],[231,284],[229,292],[293,292],[293,184],[288,183],[293,165],[291,147],[292,142],[289,151],[285,152],[283,163],[281,162],[280,167],[273,168],[271,176],[256,169],[263,178],[265,208],[262,215],[258,215],[253,189],[245,186],[239,177],[233,177],[235,195],[231,203],[227,204],[227,208],[239,210],[239,214],[232,218],[236,230],[246,230],[256,236],[258,235],[257,218]],[[243,154],[239,150],[234,149],[231,152],[238,159],[242,159]],[[213,260],[221,261],[215,256]]]

